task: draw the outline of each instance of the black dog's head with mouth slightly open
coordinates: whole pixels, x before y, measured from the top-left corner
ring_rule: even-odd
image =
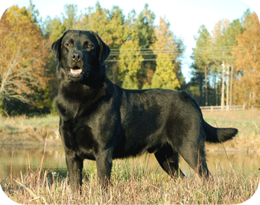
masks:
[[[110,48],[93,31],[66,31],[51,45],[59,62],[58,72],[73,81],[94,81],[106,75],[104,61]]]

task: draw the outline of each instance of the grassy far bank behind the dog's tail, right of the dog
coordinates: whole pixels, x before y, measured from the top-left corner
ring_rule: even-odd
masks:
[[[238,135],[225,142],[227,151],[260,153],[260,110],[238,110],[229,112],[204,112],[204,119],[218,128],[237,128]],[[207,144],[211,151],[223,149],[222,144]]]

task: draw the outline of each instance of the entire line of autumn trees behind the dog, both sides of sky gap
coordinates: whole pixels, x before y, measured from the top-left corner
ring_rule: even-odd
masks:
[[[148,4],[140,13],[131,10],[126,16],[120,7],[108,10],[97,1],[95,7],[86,8],[81,15],[77,13],[76,5],[67,4],[60,17],[42,21],[32,1],[28,8],[12,6],[3,13],[0,21],[2,115],[55,112],[57,62],[50,47],[68,29],[99,33],[111,47],[106,60],[108,77],[125,89],[186,90],[200,105],[219,105],[220,96],[226,102],[231,100],[229,105],[259,102],[256,84],[260,34],[255,13],[247,11],[241,20],[231,23],[222,20],[212,34],[205,26],[200,27],[191,56],[193,77],[188,83],[181,73],[183,40],[170,30],[165,17],[160,17],[155,25],[155,14]],[[244,40],[249,33],[253,34],[250,29],[256,30],[252,43]],[[220,92],[223,87],[228,88],[224,94]]]

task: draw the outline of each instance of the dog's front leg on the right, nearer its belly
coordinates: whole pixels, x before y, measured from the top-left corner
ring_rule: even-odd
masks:
[[[113,160],[113,149],[101,149],[96,155],[97,177],[99,183],[105,187],[110,182],[111,168]]]

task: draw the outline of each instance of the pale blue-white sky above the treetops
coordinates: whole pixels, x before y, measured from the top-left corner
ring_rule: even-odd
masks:
[[[111,9],[114,5],[119,6],[124,15],[135,9],[136,13],[143,10],[145,3],[149,4],[149,9],[156,15],[155,24],[159,23],[159,17],[166,17],[170,22],[170,29],[175,36],[184,40],[186,50],[182,63],[182,73],[186,82],[190,80],[190,59],[192,48],[195,47],[194,36],[200,26],[204,24],[208,31],[213,31],[214,25],[222,19],[227,18],[230,22],[240,19],[247,8],[255,11],[260,16],[259,0],[99,0],[102,8]],[[40,12],[42,20],[48,15],[53,18],[64,13],[63,6],[67,3],[78,5],[80,11],[84,13],[85,8],[94,7],[97,0],[33,0],[36,8]],[[18,6],[29,6],[29,0],[22,1],[2,1],[0,3],[0,14],[8,8],[17,4]]]

